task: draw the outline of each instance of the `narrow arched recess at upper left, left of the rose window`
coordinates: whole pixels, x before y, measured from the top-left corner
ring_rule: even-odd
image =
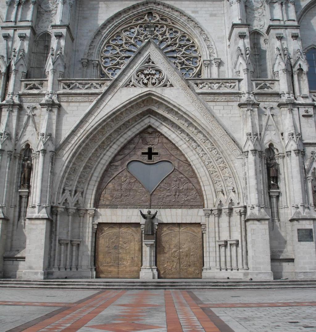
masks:
[[[37,38],[33,50],[32,78],[45,78],[45,64],[49,54],[51,36],[45,32]]]

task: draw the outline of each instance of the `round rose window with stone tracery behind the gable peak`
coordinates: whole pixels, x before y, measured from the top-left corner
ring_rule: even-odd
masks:
[[[201,67],[201,54],[192,36],[174,21],[156,12],[140,14],[116,30],[101,52],[102,74],[114,78],[148,38],[161,48],[184,77],[195,77]]]

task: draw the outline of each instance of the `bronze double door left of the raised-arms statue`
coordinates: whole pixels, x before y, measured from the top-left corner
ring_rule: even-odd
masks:
[[[140,224],[98,224],[97,278],[139,278],[140,262]]]

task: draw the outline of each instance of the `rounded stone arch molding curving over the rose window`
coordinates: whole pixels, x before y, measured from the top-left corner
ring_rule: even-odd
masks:
[[[84,58],[99,59],[101,47],[103,46],[104,41],[111,36],[111,34],[113,34],[119,27],[124,26],[127,21],[132,20],[136,15],[142,13],[146,14],[150,11],[167,16],[168,18],[174,20],[179,28],[189,33],[199,46],[202,60],[217,57],[217,50],[214,41],[194,18],[169,4],[149,0],[126,7],[106,20],[95,31],[92,40],[86,47]]]

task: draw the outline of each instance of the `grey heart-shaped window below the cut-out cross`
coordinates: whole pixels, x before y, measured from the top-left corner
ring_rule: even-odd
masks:
[[[128,163],[127,169],[149,193],[152,193],[159,183],[174,170],[174,166],[166,160],[152,164],[134,160]]]

